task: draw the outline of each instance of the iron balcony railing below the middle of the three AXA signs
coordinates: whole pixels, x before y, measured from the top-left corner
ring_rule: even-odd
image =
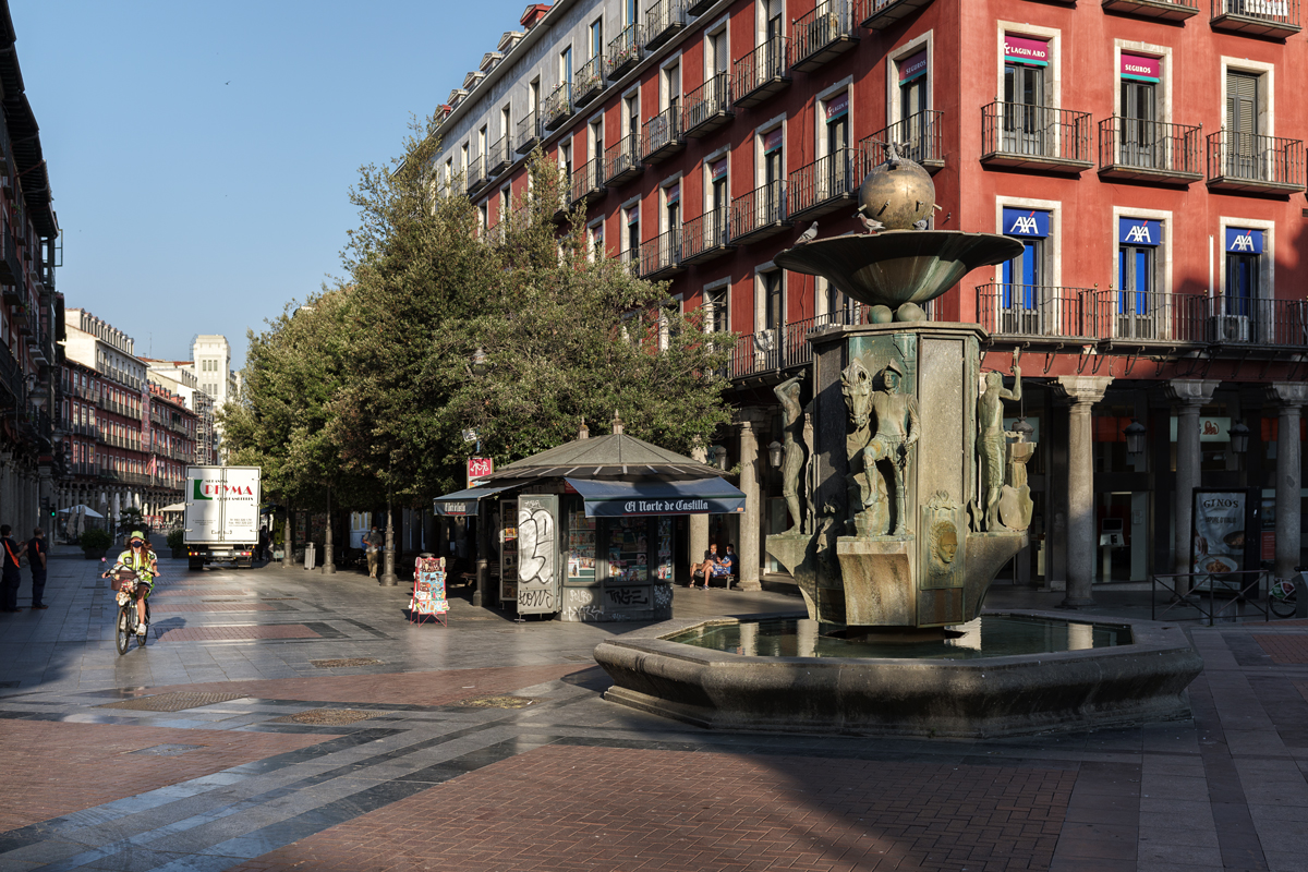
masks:
[[[1093,290],[1086,306],[1086,332],[1117,343],[1202,343],[1209,298],[1143,290]]]

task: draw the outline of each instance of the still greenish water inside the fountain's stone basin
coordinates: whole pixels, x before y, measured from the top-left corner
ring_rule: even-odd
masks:
[[[700,625],[663,637],[668,642],[714,651],[770,658],[878,658],[973,660],[1023,654],[1054,654],[1131,643],[1130,628],[1018,614],[982,614],[950,628],[950,638],[895,641],[886,637],[840,638],[819,633],[807,620],[742,621]]]

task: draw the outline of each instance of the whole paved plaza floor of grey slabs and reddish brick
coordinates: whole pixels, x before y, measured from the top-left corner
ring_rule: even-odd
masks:
[[[1299,622],[1196,625],[1193,722],[719,733],[602,698],[591,650],[630,624],[515,624],[454,588],[449,626],[415,626],[405,588],[354,571],[164,569],[124,656],[97,562],[52,560],[50,609],[0,614],[0,869],[1308,869]]]

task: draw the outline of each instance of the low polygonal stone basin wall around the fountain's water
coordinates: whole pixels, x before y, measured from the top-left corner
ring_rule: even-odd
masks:
[[[980,659],[746,656],[671,641],[730,624],[675,620],[602,642],[604,698],[712,729],[978,739],[1186,719],[1203,668],[1179,628],[1127,618],[1099,622],[1125,628],[1127,645]]]

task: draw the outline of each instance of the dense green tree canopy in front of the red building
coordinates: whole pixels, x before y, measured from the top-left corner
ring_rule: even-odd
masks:
[[[731,337],[593,251],[539,150],[530,195],[489,230],[436,152],[429,120],[400,158],[362,167],[347,277],[250,335],[242,395],[222,411],[233,461],[297,501],[331,486],[337,502],[416,503],[463,486],[466,429],[497,467],[615,413],[668,448],[706,444],[730,420]]]

